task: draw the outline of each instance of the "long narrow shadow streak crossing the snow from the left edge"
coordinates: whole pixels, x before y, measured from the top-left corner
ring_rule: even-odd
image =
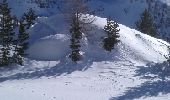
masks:
[[[34,71],[27,71],[27,72],[19,72],[13,75],[9,76],[1,76],[0,77],[0,82],[4,82],[7,80],[21,80],[21,79],[37,79],[43,76],[46,77],[56,77],[60,76],[62,74],[71,74],[74,71],[85,71],[88,68],[90,68],[93,64],[93,62],[101,62],[101,61],[113,61],[112,58],[105,58],[103,56],[103,59],[85,59],[81,62],[73,63],[68,60],[61,60],[59,64],[57,64],[54,67],[47,67],[47,68],[40,68]],[[5,68],[5,69],[0,69],[1,71],[12,71],[13,69],[17,68]]]

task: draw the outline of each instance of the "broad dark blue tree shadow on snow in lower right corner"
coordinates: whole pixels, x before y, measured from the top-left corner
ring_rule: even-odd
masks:
[[[141,78],[148,79],[140,86],[128,88],[128,90],[118,97],[113,97],[110,100],[133,100],[141,97],[158,96],[160,93],[170,93],[170,64],[168,62],[153,64],[150,63],[147,67],[139,67],[136,70],[136,75]]]

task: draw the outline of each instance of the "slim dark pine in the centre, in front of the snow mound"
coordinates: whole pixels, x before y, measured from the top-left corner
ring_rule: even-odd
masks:
[[[78,17],[75,17],[75,19],[73,19],[70,33],[71,33],[70,48],[72,49],[72,52],[69,57],[72,59],[72,61],[77,62],[82,58],[82,55],[80,54],[81,47],[80,39],[82,38],[82,33]]]

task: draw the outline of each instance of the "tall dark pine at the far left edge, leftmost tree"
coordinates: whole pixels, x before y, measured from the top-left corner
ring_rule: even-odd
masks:
[[[13,44],[14,37],[14,21],[10,15],[10,8],[6,0],[0,4],[0,42],[1,58],[0,66],[8,66],[11,62],[10,51],[12,50],[11,45]]]

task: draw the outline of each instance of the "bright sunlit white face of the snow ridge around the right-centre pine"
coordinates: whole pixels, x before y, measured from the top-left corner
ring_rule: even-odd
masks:
[[[103,29],[104,25],[106,25],[106,19],[97,17],[94,24]],[[169,54],[167,47],[169,44],[167,42],[140,33],[124,25],[119,24],[119,26],[121,43],[118,44],[117,49],[118,52],[120,51],[120,58],[121,53],[123,53],[125,59],[138,59],[138,61],[146,62],[162,62],[166,60],[164,56]]]

